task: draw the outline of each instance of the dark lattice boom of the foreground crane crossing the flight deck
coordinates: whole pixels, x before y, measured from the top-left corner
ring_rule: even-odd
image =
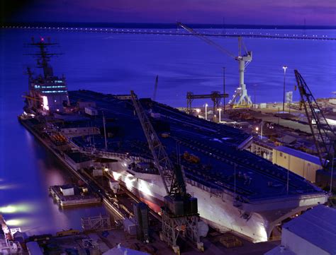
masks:
[[[166,150],[164,149],[164,146],[161,141],[159,141],[159,137],[150,123],[150,119],[145,113],[145,110],[142,108],[142,105],[133,90],[130,91],[130,97],[135,107],[135,112],[138,114],[142,129],[145,133],[155,165],[162,177],[164,189],[166,189],[167,194],[173,196],[177,194],[186,194],[186,184],[184,183],[181,169],[179,169],[178,166],[173,165]]]

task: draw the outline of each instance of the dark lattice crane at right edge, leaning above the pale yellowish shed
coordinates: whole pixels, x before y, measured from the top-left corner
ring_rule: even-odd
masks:
[[[294,73],[298,90],[301,95],[300,102],[306,112],[321,166],[324,170],[332,171],[334,165],[333,159],[335,158],[335,132],[327,123],[327,119],[325,119],[325,116],[320,109],[318,102],[316,102],[313,93],[311,93],[308,88],[306,81],[304,81],[298,70],[294,70]]]

